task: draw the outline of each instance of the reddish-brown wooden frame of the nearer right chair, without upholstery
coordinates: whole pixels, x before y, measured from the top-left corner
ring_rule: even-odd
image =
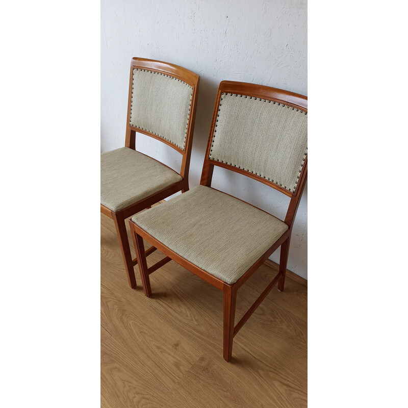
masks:
[[[288,225],[288,230],[279,238],[263,255],[260,257],[239,279],[236,283],[230,285],[223,282],[221,279],[211,275],[210,273],[202,270],[201,268],[197,267],[196,265],[192,264],[191,262],[187,261],[179,254],[175,253],[167,246],[163,245],[161,242],[156,240],[154,237],[149,235],[146,231],[142,230],[138,225],[136,225],[132,220],[130,220],[131,231],[132,231],[132,239],[134,241],[134,245],[136,248],[138,259],[140,259],[139,263],[139,270],[140,276],[143,282],[143,289],[146,296],[151,296],[151,289],[150,289],[150,281],[149,281],[149,274],[154,272],[156,269],[163,266],[165,263],[169,262],[170,260],[174,260],[178,264],[182,265],[189,271],[193,272],[197,276],[201,277],[211,285],[215,286],[216,288],[220,289],[224,293],[224,335],[223,335],[223,356],[225,361],[229,362],[232,357],[232,346],[233,346],[233,338],[244,325],[244,323],[248,320],[251,314],[258,308],[261,304],[262,300],[268,295],[271,291],[273,286],[278,283],[278,290],[283,291],[285,285],[285,276],[286,276],[286,267],[288,262],[288,254],[289,254],[289,243],[290,237],[293,228],[293,221],[296,215],[297,208],[299,206],[299,200],[302,195],[305,182],[307,180],[307,172],[308,172],[308,158],[305,157],[303,167],[301,173],[299,174],[299,180],[297,184],[297,189],[294,192],[290,192],[281,186],[278,186],[271,181],[264,179],[259,175],[254,173],[250,173],[245,171],[241,168],[228,165],[226,163],[218,162],[215,160],[209,159],[210,155],[210,148],[212,143],[212,138],[214,135],[215,124],[217,120],[218,108],[221,98],[221,93],[231,93],[231,94],[239,94],[239,95],[247,95],[257,98],[262,98],[266,100],[273,101],[277,104],[284,104],[289,105],[297,110],[308,112],[308,98],[299,95],[296,93],[284,91],[281,89],[270,88],[261,85],[254,85],[254,84],[247,84],[242,82],[231,82],[231,81],[222,81],[218,88],[215,107],[214,107],[214,114],[213,120],[211,123],[211,131],[210,137],[207,145],[206,151],[206,158],[203,163],[202,168],[202,175],[200,184],[203,186],[207,186],[211,188],[211,181],[213,176],[214,166],[219,166],[226,168],[231,171],[235,171],[237,173],[244,174],[251,179],[258,180],[261,183],[264,183],[286,195],[291,197],[290,203],[288,206],[288,210],[285,217],[285,223]],[[146,257],[144,256],[144,246],[143,246],[143,238],[162,251],[166,258],[159,261],[157,264],[147,268],[146,264]],[[244,282],[268,259],[271,254],[281,246],[281,258],[279,262],[279,272],[277,275],[272,279],[272,282],[268,285],[268,287],[261,293],[258,299],[252,304],[249,310],[244,314],[241,320],[234,326],[235,321],[235,306],[237,300],[237,291],[238,289],[244,284]]]

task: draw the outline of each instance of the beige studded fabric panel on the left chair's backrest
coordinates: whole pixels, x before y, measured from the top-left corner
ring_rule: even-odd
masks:
[[[131,126],[148,131],[184,150],[193,88],[147,69],[134,68]]]

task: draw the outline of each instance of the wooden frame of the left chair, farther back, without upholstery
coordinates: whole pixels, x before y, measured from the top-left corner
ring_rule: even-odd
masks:
[[[146,69],[146,70],[170,75],[171,77],[184,81],[185,83],[189,84],[193,88],[193,93],[191,97],[191,107],[190,107],[191,110],[190,110],[190,116],[188,120],[188,128],[187,128],[187,135],[186,135],[186,142],[184,145],[184,150],[174,145],[173,143],[161,138],[160,136],[157,136],[145,130],[141,130],[130,124],[131,101],[132,101],[132,81],[133,81],[133,70],[135,68]],[[194,122],[195,122],[195,113],[196,113],[196,108],[197,108],[197,95],[198,95],[199,81],[200,81],[199,75],[197,75],[196,73],[192,71],[189,71],[186,68],[180,67],[178,65],[173,65],[167,62],[162,62],[162,61],[148,60],[144,58],[132,58],[130,81],[129,81],[129,97],[127,101],[127,122],[126,122],[125,147],[129,147],[133,150],[136,150],[136,132],[143,133],[154,139],[160,140],[162,143],[169,145],[170,147],[172,147],[174,150],[178,151],[182,155],[180,175],[183,177],[183,180],[165,188],[164,190],[161,190],[155,194],[152,194],[118,212],[111,211],[109,208],[103,205],[100,205],[100,212],[107,215],[109,218],[113,219],[115,223],[116,233],[119,239],[119,245],[122,251],[122,257],[123,257],[124,266],[126,269],[127,280],[131,288],[136,288],[137,286],[134,266],[138,263],[137,261],[138,257],[136,257],[135,259],[132,259],[129,240],[127,239],[125,219],[138,213],[139,211],[142,211],[146,208],[151,207],[154,203],[160,200],[163,200],[164,198],[176,193],[177,191],[182,191],[182,192],[188,191],[189,189],[188,174],[189,174],[189,168],[190,168],[191,147],[193,143]],[[156,250],[155,247],[150,247],[149,249],[146,250],[144,256],[148,256],[150,253],[154,252],[155,250]]]

